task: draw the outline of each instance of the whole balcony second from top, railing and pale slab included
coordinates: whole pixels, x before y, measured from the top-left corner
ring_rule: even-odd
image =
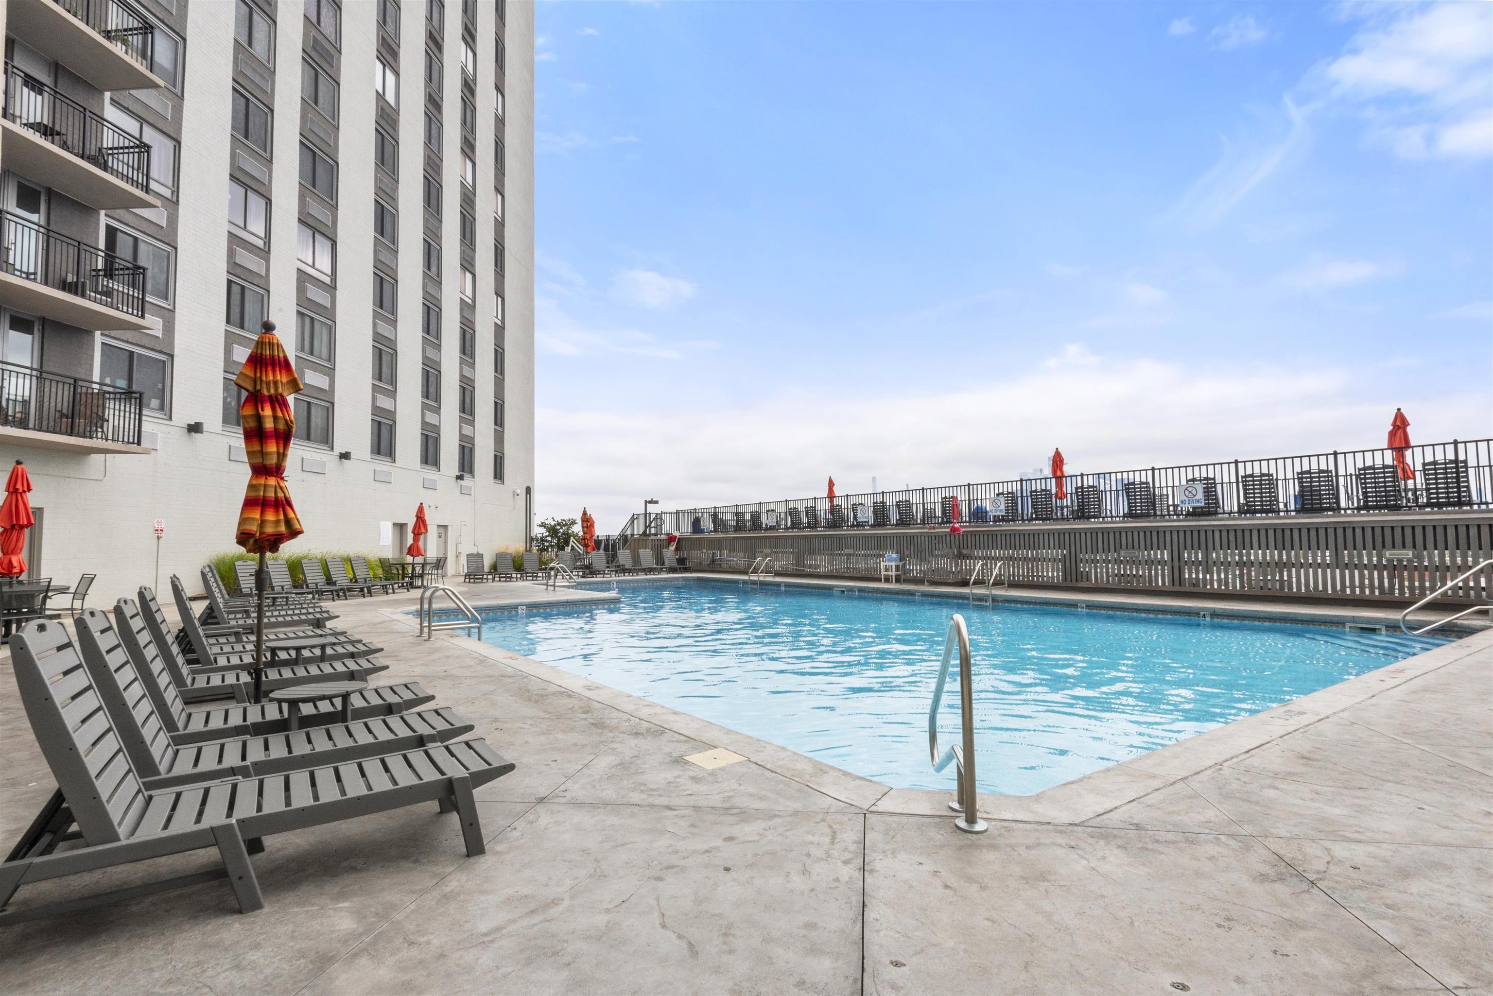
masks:
[[[151,146],[10,63],[0,131],[6,169],[90,208],[161,203],[149,193]]]

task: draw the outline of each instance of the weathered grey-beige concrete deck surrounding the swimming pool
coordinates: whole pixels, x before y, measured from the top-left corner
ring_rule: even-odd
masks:
[[[461,588],[494,606],[594,594]],[[485,856],[434,806],[269,838],[263,911],[237,914],[218,881],[0,927],[0,987],[1493,992],[1493,633],[1038,796],[981,796],[991,829],[970,838],[945,793],[426,642],[414,603],[342,602],[334,624],[387,648],[378,681],[421,681],[518,765],[478,791]],[[13,839],[54,782],[9,673],[0,747]],[[684,760],[712,748],[746,760]],[[12,908],[215,860],[27,885]]]

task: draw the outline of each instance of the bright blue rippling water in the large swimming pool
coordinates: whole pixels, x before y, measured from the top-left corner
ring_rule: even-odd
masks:
[[[973,651],[984,791],[1030,794],[1445,641],[732,582],[490,617],[488,644],[899,788],[947,788],[927,711],[948,620]],[[959,732],[957,667],[944,742]]]

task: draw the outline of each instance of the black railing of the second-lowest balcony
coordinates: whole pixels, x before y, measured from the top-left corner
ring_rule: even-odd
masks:
[[[0,269],[12,276],[82,297],[96,305],[145,315],[145,267],[25,218],[0,211]]]

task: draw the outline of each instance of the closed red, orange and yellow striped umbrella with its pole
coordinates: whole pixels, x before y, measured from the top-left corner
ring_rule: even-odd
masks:
[[[290,441],[296,435],[296,415],[290,396],[300,390],[296,367],[285,355],[285,346],[275,336],[275,323],[260,326],[249,358],[233,382],[243,388],[239,424],[243,427],[243,451],[249,458],[249,487],[243,491],[239,530],[234,542],[260,555],[254,572],[254,700],[260,700],[264,681],[264,590],[269,587],[266,554],[276,553],[305,530],[285,487],[285,461]]]

